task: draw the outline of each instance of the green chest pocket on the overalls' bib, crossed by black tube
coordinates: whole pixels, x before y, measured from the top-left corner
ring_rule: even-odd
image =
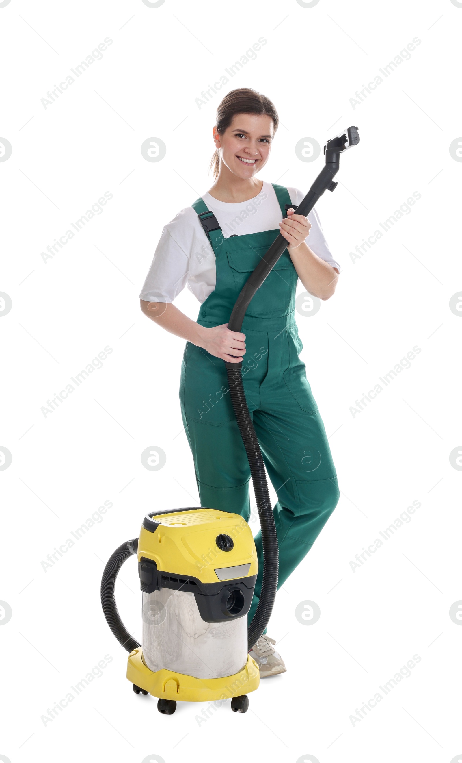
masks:
[[[252,249],[242,248],[238,252],[226,252],[236,288],[236,298],[251,272],[255,270],[258,262],[261,262],[268,251],[268,246],[255,246]],[[257,290],[246,314],[257,318],[284,317],[284,315],[289,314],[294,309],[291,302],[297,285],[297,278],[297,271],[289,253],[285,250],[271,273]]]

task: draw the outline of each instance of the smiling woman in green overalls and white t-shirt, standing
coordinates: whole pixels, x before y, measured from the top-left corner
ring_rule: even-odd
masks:
[[[213,127],[215,182],[162,230],[140,299],[146,316],[187,340],[181,412],[201,506],[249,520],[249,463],[223,363],[243,361],[245,396],[278,494],[274,520],[281,587],[339,497],[326,430],[299,358],[302,343],[294,320],[298,278],[306,291],[329,299],[339,266],[316,211],[308,218],[294,213],[302,192],[257,178],[277,129],[278,113],[265,95],[241,88],[223,98]],[[287,250],[252,299],[242,333],[230,331],[227,321],[239,291],[278,233],[287,239]],[[201,302],[197,322],[172,304],[186,285]],[[261,591],[261,533],[255,545],[259,571],[249,623]],[[275,643],[264,634],[250,652],[261,678],[286,670]]]

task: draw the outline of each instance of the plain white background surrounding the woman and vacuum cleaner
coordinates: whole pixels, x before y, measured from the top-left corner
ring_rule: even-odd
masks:
[[[0,445],[12,454],[0,472],[0,599],[12,610],[0,628],[0,760],[462,760],[462,627],[449,617],[462,599],[462,474],[449,461],[462,443],[462,320],[449,308],[462,285],[462,164],[449,153],[462,134],[462,8],[450,0],[0,5],[0,135],[12,146],[0,163],[0,291],[12,301],[0,323]],[[105,37],[113,43],[102,60],[43,108],[40,99]],[[198,108],[201,91],[259,37],[267,43],[256,59]],[[414,37],[422,42],[410,60],[353,108],[355,92]],[[178,401],[184,343],[141,314],[138,295],[163,225],[212,184],[215,110],[241,86],[268,95],[281,118],[261,175],[268,182],[306,192],[323,159],[300,161],[296,143],[314,137],[322,146],[350,124],[361,135],[342,157],[335,193],[317,205],[342,263],[337,291],[316,316],[297,314],[342,497],[278,593],[268,634],[282,639],[287,673],[262,681],[245,715],[226,703],[204,721],[207,704],[178,703],[162,716],[154,698],[133,694],[99,584],[147,510],[198,505]],[[140,153],[149,137],[167,147],[159,163]],[[40,253],[104,192],[113,198],[103,213],[45,264]],[[349,253],[412,192],[422,198],[411,214],[352,262]],[[175,304],[197,316],[188,291]],[[353,417],[355,400],[415,345],[411,368]],[[113,352],[103,367],[44,417],[40,408],[104,346]],[[148,446],[166,453],[158,472],[141,464]],[[104,520],[44,571],[47,554],[104,501],[113,504]],[[422,504],[412,520],[352,571],[349,562],[412,501]],[[313,625],[295,617],[305,600],[321,610]],[[134,560],[117,601],[140,638]],[[41,716],[104,655],[112,662],[101,677],[45,726]],[[411,676],[353,724],[412,655],[421,661]]]

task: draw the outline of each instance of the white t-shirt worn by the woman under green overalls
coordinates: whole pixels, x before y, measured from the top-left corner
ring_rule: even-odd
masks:
[[[303,199],[298,188],[287,188],[290,202],[297,206]],[[271,183],[263,182],[261,192],[249,201],[228,204],[205,193],[207,208],[220,224],[223,237],[236,233],[261,233],[262,230],[278,230],[282,220],[281,207]],[[308,215],[311,223],[306,243],[318,257],[338,268],[322,232],[318,214],[313,209]],[[141,290],[140,299],[151,302],[173,302],[180,291],[188,286],[202,303],[215,288],[217,275],[215,254],[197,212],[192,207],[182,209],[165,225],[151,267]]]

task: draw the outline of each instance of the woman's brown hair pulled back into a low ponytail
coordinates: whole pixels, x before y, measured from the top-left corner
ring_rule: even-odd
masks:
[[[274,108],[273,102],[266,95],[261,95],[252,88],[237,88],[225,95],[217,108],[217,131],[220,135],[233,122],[236,114],[265,114],[273,120],[274,133],[278,130],[278,111]],[[213,153],[210,169],[213,171],[214,179],[217,179],[220,169],[219,149],[215,149]]]

